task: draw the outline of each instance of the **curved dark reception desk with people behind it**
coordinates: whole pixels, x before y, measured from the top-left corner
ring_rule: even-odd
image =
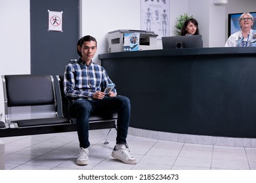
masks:
[[[186,48],[100,54],[131,127],[256,138],[256,48]]]

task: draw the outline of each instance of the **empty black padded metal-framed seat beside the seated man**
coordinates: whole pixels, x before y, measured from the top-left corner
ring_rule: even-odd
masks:
[[[10,128],[66,125],[59,117],[51,75],[3,75],[5,123]]]

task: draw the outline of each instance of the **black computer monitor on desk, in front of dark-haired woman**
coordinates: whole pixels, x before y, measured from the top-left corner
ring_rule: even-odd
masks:
[[[202,48],[202,35],[162,37],[163,49],[171,48]]]

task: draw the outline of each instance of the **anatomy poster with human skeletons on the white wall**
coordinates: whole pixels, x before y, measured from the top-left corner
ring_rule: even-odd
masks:
[[[140,0],[140,29],[154,31],[158,39],[169,36],[169,0]]]

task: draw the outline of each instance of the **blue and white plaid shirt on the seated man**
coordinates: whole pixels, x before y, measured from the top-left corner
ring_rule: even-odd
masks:
[[[103,92],[107,84],[112,84],[106,70],[100,65],[87,64],[79,58],[66,65],[64,71],[64,93],[70,100],[92,99],[96,91]],[[116,93],[114,88],[112,92]]]

